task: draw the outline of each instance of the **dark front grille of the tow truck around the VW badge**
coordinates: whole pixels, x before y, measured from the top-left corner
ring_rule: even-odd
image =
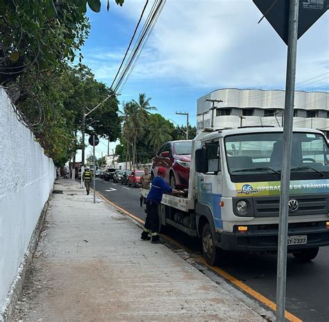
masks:
[[[328,194],[317,194],[310,196],[294,195],[289,200],[298,201],[299,207],[296,212],[289,212],[289,216],[303,216],[312,214],[328,214],[329,196]],[[255,217],[277,217],[279,215],[280,198],[273,197],[253,197],[253,209]]]

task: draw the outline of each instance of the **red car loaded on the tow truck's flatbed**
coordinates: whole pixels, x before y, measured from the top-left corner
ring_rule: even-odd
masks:
[[[188,188],[191,153],[191,139],[167,142],[153,158],[151,177],[157,175],[158,167],[164,167],[167,170],[165,180],[172,188]]]

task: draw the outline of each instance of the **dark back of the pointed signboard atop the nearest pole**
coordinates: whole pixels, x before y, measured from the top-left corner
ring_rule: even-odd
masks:
[[[253,0],[274,30],[288,44],[289,0]],[[299,0],[298,39],[328,10],[329,0]]]

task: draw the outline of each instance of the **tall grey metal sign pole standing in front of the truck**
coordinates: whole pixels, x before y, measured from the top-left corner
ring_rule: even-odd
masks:
[[[290,161],[292,158],[292,126],[298,40],[298,0],[289,0],[289,31],[287,75],[285,87],[285,118],[283,125],[280,219],[278,232],[278,269],[276,280],[276,321],[285,321],[285,290],[287,273],[287,235],[289,215]]]

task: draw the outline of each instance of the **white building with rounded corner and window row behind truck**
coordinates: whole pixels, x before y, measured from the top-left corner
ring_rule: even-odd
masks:
[[[215,90],[198,99],[196,126],[282,126],[284,108],[283,90]],[[317,128],[329,137],[329,93],[296,91],[294,127]]]

